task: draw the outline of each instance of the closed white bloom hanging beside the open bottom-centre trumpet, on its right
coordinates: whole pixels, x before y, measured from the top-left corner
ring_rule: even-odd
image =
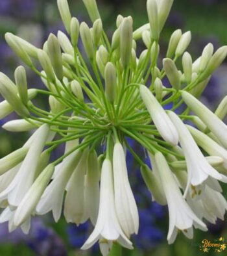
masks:
[[[120,142],[114,145],[114,195],[117,218],[121,228],[129,237],[138,232],[139,214],[136,201],[128,181],[128,172],[125,160],[125,151]]]

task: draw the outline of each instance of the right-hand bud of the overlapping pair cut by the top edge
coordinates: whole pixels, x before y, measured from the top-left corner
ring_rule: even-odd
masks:
[[[169,16],[169,12],[171,11],[171,7],[173,5],[173,0],[160,0],[158,2],[158,22],[160,27],[160,32],[165,25],[165,21]]]

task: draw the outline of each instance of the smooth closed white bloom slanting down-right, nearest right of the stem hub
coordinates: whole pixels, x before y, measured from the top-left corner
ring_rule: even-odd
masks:
[[[178,144],[178,133],[169,116],[165,113],[165,110],[161,107],[156,97],[150,92],[149,88],[144,85],[139,87],[139,91],[143,102],[145,103],[147,110],[150,113],[152,121],[156,125],[158,132],[162,138],[176,146]]]

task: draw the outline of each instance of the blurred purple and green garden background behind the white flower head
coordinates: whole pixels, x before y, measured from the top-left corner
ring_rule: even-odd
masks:
[[[103,19],[104,28],[111,36],[115,29],[117,14],[131,15],[134,18],[134,29],[147,23],[146,0],[97,0]],[[69,0],[71,12],[79,21],[90,23],[82,0]],[[176,29],[191,30],[193,40],[189,52],[195,60],[202,52],[203,47],[211,42],[215,49],[227,44],[227,1],[226,0],[175,0],[171,15],[167,20],[165,29],[161,34],[161,57],[165,56],[167,43],[171,33]],[[49,32],[64,30],[56,8],[56,0],[1,0],[0,1],[0,71],[10,77],[19,65],[19,60],[6,45],[4,34],[6,31],[14,32],[29,40],[36,46],[42,47]],[[140,42],[138,49],[143,49]],[[33,86],[43,86],[40,79],[29,73],[29,83]],[[223,64],[213,75],[202,101],[211,109],[227,94],[227,67]],[[40,101],[39,104],[45,105]],[[15,114],[8,118],[15,118]],[[1,120],[1,125],[8,118]],[[20,147],[27,133],[0,133],[0,157],[8,154],[13,149]],[[133,144],[133,142],[130,142]],[[137,145],[132,145],[138,147]],[[139,151],[140,149],[137,148]],[[141,151],[141,150],[140,150]],[[143,155],[141,151],[141,155]],[[161,207],[151,201],[141,175],[139,166],[128,154],[128,170],[134,196],[139,207],[140,227],[139,234],[132,237],[136,250],[123,251],[123,255],[163,255],[163,256],[191,256],[203,255],[198,246],[202,239],[214,240],[224,237],[227,240],[226,221],[219,220],[216,225],[209,225],[209,231],[202,233],[195,231],[193,240],[187,240],[182,234],[178,235],[176,242],[168,246],[166,241],[168,231],[168,212],[166,207]],[[227,196],[226,191],[224,192]],[[92,251],[83,252],[79,248],[88,237],[92,227],[89,223],[77,227],[66,224],[64,218],[55,224],[51,215],[34,218],[29,235],[23,235],[20,229],[8,233],[7,224],[0,224],[0,255],[48,255],[48,256],[73,256],[73,255],[101,255],[98,246]],[[226,255],[227,250],[222,252]],[[209,253],[215,255],[215,253]]]

